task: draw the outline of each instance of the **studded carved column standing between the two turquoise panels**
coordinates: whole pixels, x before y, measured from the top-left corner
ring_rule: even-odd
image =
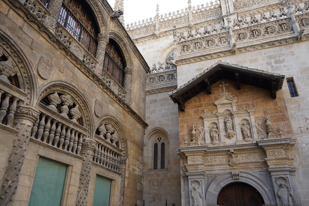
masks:
[[[79,176],[78,194],[76,198],[76,206],[86,206],[88,188],[90,182],[91,162],[94,155],[96,142],[91,139],[84,139],[80,155],[84,157],[83,166]]]

